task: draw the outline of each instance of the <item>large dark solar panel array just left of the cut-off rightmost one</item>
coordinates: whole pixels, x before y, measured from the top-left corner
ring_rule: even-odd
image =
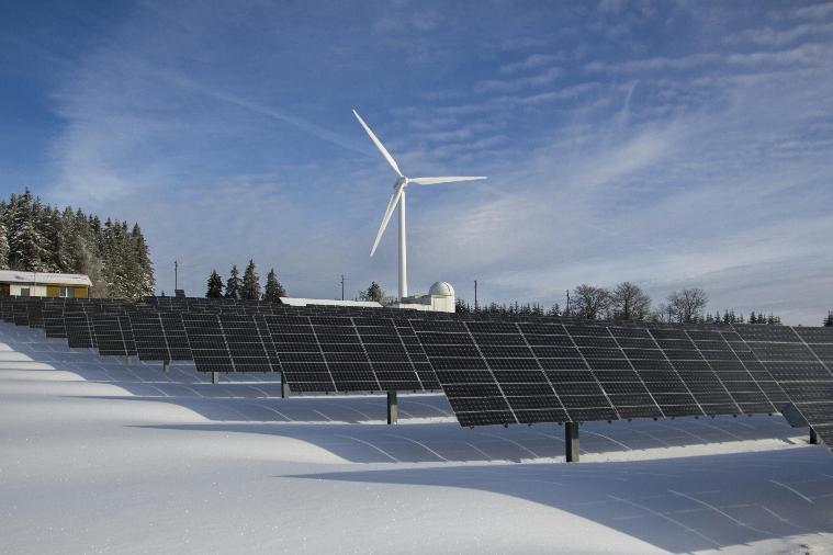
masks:
[[[729,328],[412,324],[463,426],[766,414],[789,400]]]

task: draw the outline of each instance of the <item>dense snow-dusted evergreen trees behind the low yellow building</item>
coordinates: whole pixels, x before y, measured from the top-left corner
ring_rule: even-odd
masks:
[[[90,296],[154,294],[154,267],[138,223],[44,204],[29,189],[0,201],[0,268],[87,274]]]

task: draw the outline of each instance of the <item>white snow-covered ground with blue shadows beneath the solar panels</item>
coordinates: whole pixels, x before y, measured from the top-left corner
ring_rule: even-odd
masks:
[[[589,423],[565,464],[555,424],[270,378],[0,324],[0,553],[833,553],[833,455],[779,416]]]

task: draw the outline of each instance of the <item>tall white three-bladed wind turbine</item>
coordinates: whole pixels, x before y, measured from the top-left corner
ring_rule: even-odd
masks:
[[[393,168],[393,171],[396,172],[396,181],[393,183],[393,193],[391,194],[391,200],[387,201],[387,208],[385,209],[384,217],[382,218],[382,225],[379,226],[379,233],[376,234],[376,240],[373,241],[373,248],[370,249],[370,256],[372,257],[373,253],[376,251],[376,247],[379,247],[379,241],[382,239],[382,235],[385,233],[385,228],[387,228],[387,223],[391,220],[391,216],[393,216],[393,211],[396,209],[396,205],[399,205],[399,301],[408,296],[408,263],[407,263],[407,247],[405,241],[405,188],[408,185],[438,185],[440,183],[453,183],[457,181],[477,181],[481,179],[486,179],[484,177],[466,177],[466,175],[450,175],[450,177],[440,177],[440,178],[406,178],[402,174],[402,171],[399,171],[399,167],[396,165],[396,160],[393,159],[393,156],[391,156],[391,152],[387,151],[387,149],[384,147],[381,140],[379,140],[379,137],[376,137],[373,132],[370,129],[367,123],[364,123],[364,120],[361,118],[359,115],[359,112],[353,110],[353,115],[356,115],[356,118],[359,120],[359,123],[362,127],[364,127],[364,131],[368,132],[368,135],[370,136],[370,139],[373,141],[373,144],[376,146],[380,152],[382,152],[382,156],[385,160],[387,160],[387,163],[391,165],[391,168]]]

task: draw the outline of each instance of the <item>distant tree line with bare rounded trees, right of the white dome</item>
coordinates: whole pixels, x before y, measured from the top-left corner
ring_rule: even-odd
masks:
[[[706,313],[708,294],[699,287],[684,288],[668,294],[664,302],[654,305],[645,291],[632,282],[614,287],[599,287],[583,283],[569,292],[564,307],[555,303],[544,309],[537,303],[497,304],[472,307],[466,301],[457,301],[458,313],[493,313],[519,316],[567,316],[588,320],[652,321],[673,324],[768,324],[780,325],[780,316],[752,312],[746,318],[734,310]],[[833,315],[829,317],[833,322]],[[833,324],[832,324],[833,325]]]

